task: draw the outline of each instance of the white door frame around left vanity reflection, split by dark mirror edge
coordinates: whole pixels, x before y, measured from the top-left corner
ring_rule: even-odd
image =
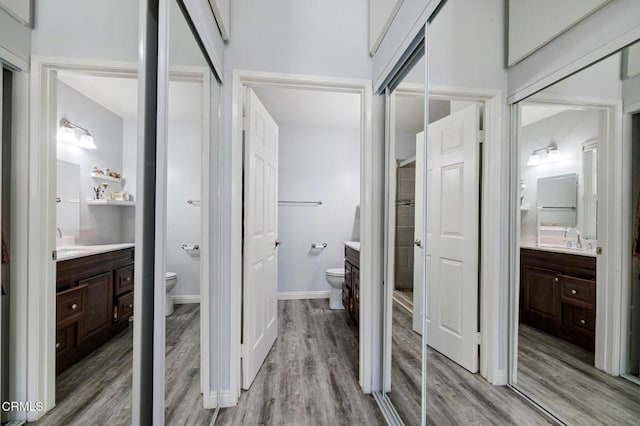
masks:
[[[56,169],[56,120],[57,93],[55,80],[58,72],[74,72],[83,75],[138,78],[138,64],[129,62],[112,62],[99,60],[77,60],[60,57],[37,57],[31,61],[31,94],[29,124],[31,134],[29,138],[28,160],[29,176],[29,237],[27,258],[32,265],[26,291],[31,296],[28,298],[27,332],[18,336],[19,344],[29,348],[26,361],[27,395],[30,401],[42,401],[44,410],[28,413],[29,420],[37,420],[55,406],[55,280],[56,262],[52,260],[52,252],[55,250],[56,209],[53,203],[47,200],[55,198],[55,179],[50,179]],[[211,164],[208,161],[211,155],[211,114],[210,111],[217,106],[210,105],[210,87],[212,75],[209,68],[179,66],[171,67],[170,80],[192,81],[203,85],[203,122],[202,122],[202,178],[201,178],[201,230],[206,236],[200,243],[200,252],[203,259],[208,259],[212,242],[208,233],[215,227],[210,223],[210,198],[211,198]],[[210,146],[211,145],[211,146]],[[138,166],[139,167],[139,166]],[[165,207],[166,209],[166,207]],[[165,211],[166,215],[166,211]],[[136,231],[136,236],[138,232]],[[138,256],[136,255],[136,258]],[[164,267],[163,267],[164,268]],[[136,287],[140,281],[136,277]],[[164,276],[161,279],[164,282]],[[213,408],[216,404],[215,392],[211,392],[211,320],[210,320],[210,267],[208,262],[200,262],[200,380],[203,392],[205,408]],[[164,312],[164,295],[159,304]],[[141,301],[135,299],[135,308],[139,311]],[[156,305],[158,301],[156,300]],[[135,331],[134,331],[135,334]],[[163,340],[164,347],[164,340]],[[136,357],[140,353],[134,351],[134,365]],[[164,353],[154,354],[155,357],[164,358]],[[29,372],[38,372],[30,374]],[[163,402],[164,404],[164,399]]]

